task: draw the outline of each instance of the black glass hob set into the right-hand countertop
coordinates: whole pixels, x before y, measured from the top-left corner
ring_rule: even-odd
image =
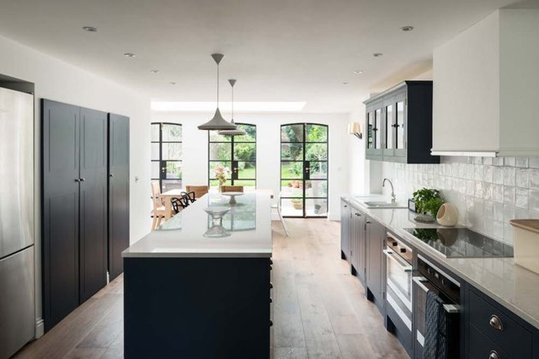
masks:
[[[513,247],[466,228],[405,228],[448,258],[513,257]]]

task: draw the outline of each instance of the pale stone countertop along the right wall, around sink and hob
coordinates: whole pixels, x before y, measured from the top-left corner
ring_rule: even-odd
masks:
[[[538,274],[519,266],[513,258],[446,258],[433,247],[404,231],[405,228],[441,227],[438,224],[415,222],[415,213],[407,208],[366,208],[361,204],[366,200],[381,200],[381,195],[362,196],[361,200],[358,200],[357,195],[343,195],[341,199],[403,237],[462,280],[539,329]]]

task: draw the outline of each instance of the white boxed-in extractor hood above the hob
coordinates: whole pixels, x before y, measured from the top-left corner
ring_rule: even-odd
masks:
[[[539,9],[502,9],[433,53],[433,153],[538,156]]]

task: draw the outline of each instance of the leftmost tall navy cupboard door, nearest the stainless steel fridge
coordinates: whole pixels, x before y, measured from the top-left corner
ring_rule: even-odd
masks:
[[[79,304],[79,108],[41,101],[43,297],[48,331]]]

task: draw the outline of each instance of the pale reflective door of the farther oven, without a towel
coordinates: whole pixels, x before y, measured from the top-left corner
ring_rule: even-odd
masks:
[[[408,311],[412,311],[412,264],[399,254],[384,249],[387,259],[387,285]]]

